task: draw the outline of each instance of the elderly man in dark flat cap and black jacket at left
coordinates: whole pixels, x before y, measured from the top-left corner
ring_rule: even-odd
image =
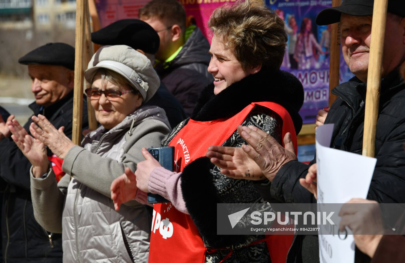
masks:
[[[71,138],[75,49],[64,43],[48,43],[32,50],[18,62],[28,65],[31,91],[35,96],[35,102],[29,107],[34,115],[46,116],[56,128],[63,126],[64,133]],[[87,108],[86,100],[83,108]],[[24,127],[16,120],[12,121],[17,125],[19,134],[30,134],[31,118]],[[83,128],[87,126],[85,111]],[[10,138],[9,125],[4,120],[0,122],[0,132],[0,179],[6,183],[2,207],[3,260],[8,263],[60,263],[61,235],[45,231],[34,218],[30,193],[31,164]],[[47,155],[51,161],[54,160],[51,151],[48,150]],[[55,163],[49,163],[53,170],[58,166],[54,166]]]

